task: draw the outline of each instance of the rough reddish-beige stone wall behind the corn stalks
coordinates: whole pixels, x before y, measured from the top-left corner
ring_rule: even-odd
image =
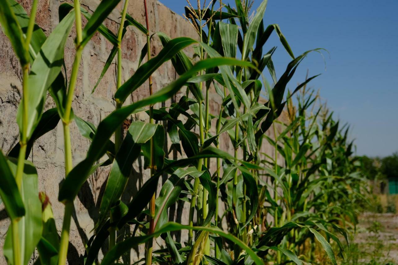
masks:
[[[25,8],[27,13],[30,13],[31,0],[21,0],[20,4]],[[36,17],[36,23],[43,28],[48,35],[58,24],[58,7],[65,1],[59,0],[39,0],[39,8]],[[70,2],[70,1],[69,1]],[[98,5],[98,0],[82,0],[82,5],[89,11],[94,12]],[[117,32],[119,26],[119,10],[123,7],[121,2],[119,6],[111,13],[104,24],[113,32]],[[163,4],[156,0],[148,0],[149,23],[151,31],[163,31],[170,35],[170,37],[187,36],[197,39],[195,31],[191,26],[184,21],[184,19],[170,11]],[[140,1],[130,1],[128,13],[144,24],[144,7]],[[156,23],[155,23],[156,21]],[[83,19],[83,24],[86,20]],[[75,29],[72,28],[68,41],[65,47],[65,64],[68,76],[72,68],[74,59],[74,43]],[[123,39],[123,79],[127,80],[137,69],[140,50],[146,43],[146,37],[137,29],[129,27],[125,38]],[[151,50],[152,56],[156,55],[161,49],[160,41],[154,37],[152,41],[153,47]],[[80,72],[78,75],[78,83],[73,100],[74,113],[84,120],[98,125],[100,121],[109,115],[115,109],[115,101],[113,94],[116,87],[116,65],[115,62],[110,66],[108,72],[103,77],[96,92],[91,95],[91,90],[100,76],[101,70],[107,60],[109,51],[112,45],[102,35],[96,33],[92,40],[87,44],[82,55],[80,64]],[[12,51],[10,42],[4,35],[0,33],[0,147],[4,153],[11,150],[11,148],[18,142],[18,126],[16,123],[16,110],[21,99],[21,69],[18,59]],[[159,90],[165,85],[169,84],[176,78],[177,74],[172,67],[171,62],[165,63],[153,74],[154,91]],[[176,101],[185,94],[181,90],[171,101]],[[126,104],[132,101],[137,101],[148,95],[148,84],[145,83],[136,92],[127,99]],[[214,93],[211,95],[211,112],[213,114],[218,112],[219,97]],[[170,101],[158,104],[155,107],[170,105]],[[49,109],[55,107],[51,97],[48,97],[45,108]],[[147,120],[146,114],[132,115],[133,120]],[[233,152],[232,145],[228,139],[228,135],[223,135],[220,141],[222,150]],[[76,125],[71,124],[71,138],[72,138],[72,154],[73,163],[76,165],[86,155],[89,140],[82,137]],[[168,140],[170,145],[170,139]],[[273,148],[268,143],[264,143],[263,150],[274,156]],[[171,153],[170,158],[176,158],[176,154]],[[59,186],[64,179],[64,144],[62,124],[59,123],[57,128],[50,133],[45,134],[39,138],[29,156],[29,160],[33,161],[39,175],[39,190],[45,191],[52,203],[57,228],[60,232],[62,228],[62,216],[64,214],[64,205],[57,200]],[[281,159],[279,160],[281,161]],[[281,161],[282,162],[282,161]],[[142,160],[135,162],[134,172],[130,177],[125,194],[122,200],[129,202],[135,195],[137,190],[142,186],[144,181],[148,179],[148,170],[142,169]],[[215,161],[212,162],[212,167],[215,168]],[[84,255],[84,244],[92,236],[92,228],[94,221],[98,218],[98,207],[101,201],[101,193],[105,188],[105,181],[109,173],[110,167],[100,168],[94,173],[88,181],[83,185],[78,194],[78,198],[74,201],[75,212],[73,214],[73,221],[71,223],[70,231],[70,246],[68,262],[69,264],[79,264],[82,262],[82,255]],[[158,190],[166,179],[159,181]],[[178,203],[175,207],[170,209],[170,220],[187,224],[187,209],[188,205]],[[220,209],[222,210],[222,209]],[[183,213],[183,214],[182,214]],[[4,206],[0,206],[0,264],[6,263],[2,255],[2,246],[10,222],[7,218]],[[120,231],[118,236],[123,238],[123,234],[129,231]],[[186,232],[175,234],[176,239],[182,241],[186,238]],[[159,240],[159,245],[163,243]],[[154,243],[158,247],[158,244]],[[131,251],[131,257],[142,258],[144,254],[143,246]],[[102,255],[102,254],[100,254]],[[37,257],[37,254],[35,254]],[[128,259],[128,258],[127,258]],[[136,259],[137,260],[137,259]],[[128,260],[125,260],[129,263]]]

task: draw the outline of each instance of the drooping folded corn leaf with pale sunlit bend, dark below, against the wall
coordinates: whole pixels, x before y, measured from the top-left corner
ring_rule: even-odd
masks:
[[[129,180],[133,163],[139,157],[141,145],[147,142],[156,131],[158,125],[135,121],[131,123],[127,136],[121,143],[115,160],[113,160],[105,191],[100,206],[100,218],[97,224],[101,226],[109,209],[121,197]],[[98,225],[97,225],[98,227]]]

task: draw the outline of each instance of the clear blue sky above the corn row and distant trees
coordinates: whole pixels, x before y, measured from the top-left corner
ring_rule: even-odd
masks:
[[[185,0],[160,0],[183,14]],[[193,4],[195,0],[191,1]],[[202,0],[203,2],[203,0]],[[234,0],[223,0],[234,6]],[[259,5],[254,1],[252,10]],[[217,4],[218,5],[218,4]],[[268,0],[265,27],[277,23],[295,55],[325,48],[324,59],[309,55],[288,84],[294,89],[305,78],[343,123],[351,125],[357,154],[387,156],[398,151],[398,0]],[[276,34],[264,50],[273,56],[277,77],[290,57]]]

